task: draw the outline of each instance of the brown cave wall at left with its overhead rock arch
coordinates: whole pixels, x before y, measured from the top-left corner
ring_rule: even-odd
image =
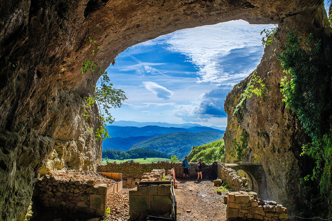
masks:
[[[179,29],[235,19],[244,19],[253,24],[279,23],[283,24],[283,27],[288,24],[296,27],[304,26],[303,30],[306,30],[304,32],[313,26],[320,30],[327,20],[325,17],[320,20],[318,17],[318,20],[314,19],[323,13],[322,5],[317,4],[315,0],[2,2],[0,6],[0,194],[2,196],[0,214],[2,219],[25,218],[33,187],[40,174],[63,167],[94,170],[96,165],[101,163],[101,141],[96,141],[94,136],[101,124],[96,119],[97,106],[86,108],[86,99],[84,99],[93,93],[99,74],[87,72],[82,75],[82,62],[90,59],[98,63],[102,69],[106,69],[113,58],[128,46]],[[310,26],[307,27],[308,23]],[[93,41],[90,43],[89,39]],[[282,38],[279,45],[272,45],[270,48],[280,49],[284,40]],[[98,50],[96,50],[97,45],[100,46]],[[95,55],[92,55],[92,50],[96,50]],[[282,75],[280,65],[274,57],[265,55],[263,62],[266,70],[271,70],[273,67],[276,68],[273,69],[273,73]],[[270,75],[266,78],[269,80]],[[277,82],[275,78],[269,81],[271,85]],[[277,91],[274,94],[278,93]],[[256,104],[255,107],[260,107],[258,100],[251,102]],[[272,100],[271,104],[273,108],[279,110],[280,96],[277,100]],[[88,119],[83,116],[85,110],[90,115]],[[285,114],[289,116],[287,125],[291,125],[291,130],[297,128],[292,115],[287,110],[281,113],[283,117]],[[234,127],[243,128],[236,121],[230,122]],[[285,124],[279,126],[284,127]],[[261,128],[267,131],[264,126]],[[298,129],[290,131],[289,134],[292,135],[287,138],[283,138],[284,134],[275,134],[274,140],[291,139],[295,145],[301,140],[296,137],[297,134],[302,134],[296,131]],[[284,150],[285,156],[289,158],[296,155],[286,147]],[[265,157],[260,155],[260,159]],[[294,160],[292,165],[296,165],[296,162],[297,160]],[[276,174],[273,170],[267,173],[271,173],[271,176]],[[289,178],[286,181],[289,181]]]

